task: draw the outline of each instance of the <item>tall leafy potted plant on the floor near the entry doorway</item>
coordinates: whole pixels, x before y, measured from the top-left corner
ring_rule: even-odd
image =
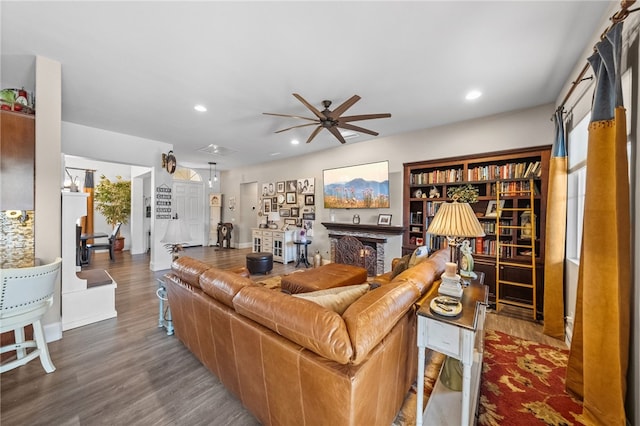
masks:
[[[131,181],[122,180],[116,176],[112,181],[105,175],[100,176],[100,182],[95,192],[96,210],[107,220],[107,223],[115,227],[116,223],[126,224],[131,215]],[[114,243],[115,250],[124,248],[124,237],[118,232]]]

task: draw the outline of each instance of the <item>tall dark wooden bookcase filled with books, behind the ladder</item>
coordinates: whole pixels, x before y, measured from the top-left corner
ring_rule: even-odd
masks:
[[[485,230],[483,238],[470,239],[474,251],[475,268],[485,273],[485,284],[489,286],[489,300],[495,303],[496,256],[510,263],[531,263],[531,256],[519,249],[503,248],[496,253],[496,240],[517,244],[522,240],[522,230],[518,229],[522,218],[509,208],[523,208],[530,203],[528,195],[503,197],[505,211],[500,217],[491,216],[491,205],[496,204],[496,191],[504,188],[525,188],[534,184],[534,206],[536,215],[534,241],[536,248],[536,271],[544,266],[545,219],[547,208],[547,184],[551,146],[539,146],[509,151],[491,152],[481,155],[445,158],[404,164],[403,183],[403,225],[406,228],[402,248],[403,253],[411,253],[418,245],[427,245],[437,250],[446,245],[446,238],[430,235],[427,229],[433,216],[443,202],[451,201],[451,188],[471,185],[478,191],[478,201],[471,204],[480,224]],[[500,221],[500,222],[498,222]],[[496,235],[497,225],[503,231]],[[510,228],[513,226],[513,228]],[[510,266],[514,271],[520,269]],[[529,271],[530,272],[530,271]],[[516,272],[514,272],[516,273]],[[519,271],[518,273],[523,273]],[[542,310],[543,274],[537,273],[537,300]],[[503,275],[504,276],[504,275]],[[516,293],[518,293],[516,291]],[[520,294],[521,293],[521,294]],[[531,295],[520,291],[514,297],[525,300]],[[542,312],[538,313],[540,317]]]

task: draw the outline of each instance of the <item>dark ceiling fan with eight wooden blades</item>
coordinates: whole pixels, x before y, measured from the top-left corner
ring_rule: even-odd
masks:
[[[358,95],[353,95],[352,97],[350,97],[349,99],[344,101],[342,103],[342,105],[340,105],[339,107],[337,107],[333,111],[329,110],[329,107],[331,106],[331,101],[322,101],[322,105],[324,106],[324,110],[318,111],[313,105],[311,105],[309,102],[307,102],[302,96],[298,95],[297,93],[294,93],[293,96],[295,96],[296,99],[298,99],[300,102],[302,102],[304,104],[304,106],[309,108],[309,110],[311,112],[313,112],[313,114],[316,116],[316,118],[302,117],[302,116],[299,116],[299,115],[276,114],[276,113],[271,113],[271,112],[264,112],[263,114],[265,114],[265,115],[275,115],[275,116],[278,116],[278,117],[300,118],[302,120],[311,121],[312,123],[300,124],[298,126],[288,127],[286,129],[278,130],[278,131],[275,132],[275,133],[281,133],[281,132],[286,132],[287,130],[296,129],[298,127],[318,126],[318,127],[316,127],[314,129],[313,132],[311,132],[311,135],[309,136],[309,139],[307,139],[307,143],[311,142],[313,140],[313,138],[315,138],[318,135],[318,133],[320,133],[320,130],[322,130],[322,129],[327,129],[328,131],[330,131],[331,134],[333,136],[335,136],[336,139],[338,139],[340,141],[340,143],[346,143],[346,141],[344,140],[344,137],[342,136],[342,134],[340,133],[338,128],[346,129],[346,130],[353,130],[354,132],[360,132],[360,133],[366,133],[368,135],[378,136],[378,133],[374,132],[373,130],[365,129],[365,128],[359,127],[359,126],[354,126],[353,124],[349,124],[349,123],[352,122],[352,121],[373,120],[375,118],[389,118],[389,117],[391,117],[391,114],[389,114],[389,113],[348,115],[348,116],[342,117],[342,114],[344,114],[349,108],[351,108],[353,106],[353,104],[355,104],[356,102],[358,102],[360,100],[360,96],[358,96]]]

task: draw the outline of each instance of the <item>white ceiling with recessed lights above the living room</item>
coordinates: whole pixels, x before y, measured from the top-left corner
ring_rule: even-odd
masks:
[[[55,59],[64,121],[224,170],[339,144],[326,130],[305,144],[313,127],[274,133],[304,122],[263,112],[312,116],[292,93],[318,109],[360,95],[345,115],[392,114],[354,123],[378,137],[553,102],[612,4],[3,0],[2,84],[33,87],[8,55]],[[470,89],[484,95],[465,101]],[[209,144],[230,153],[198,151]]]

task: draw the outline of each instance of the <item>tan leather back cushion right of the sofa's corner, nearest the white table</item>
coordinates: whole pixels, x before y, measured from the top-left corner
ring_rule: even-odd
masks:
[[[418,287],[410,282],[393,282],[370,291],[356,300],[342,315],[353,346],[354,364],[367,358],[398,320],[420,297]]]

